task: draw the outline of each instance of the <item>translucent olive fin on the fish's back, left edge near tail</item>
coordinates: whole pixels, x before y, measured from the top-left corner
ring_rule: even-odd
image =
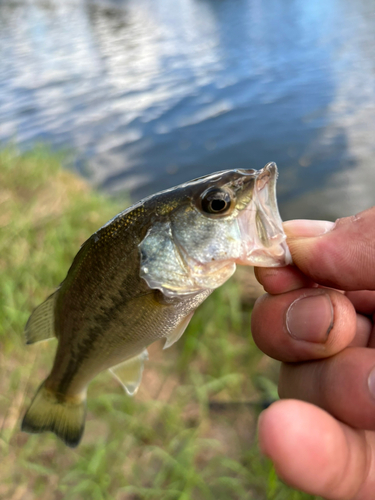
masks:
[[[58,290],[31,314],[25,326],[26,344],[34,344],[55,336],[55,302]]]

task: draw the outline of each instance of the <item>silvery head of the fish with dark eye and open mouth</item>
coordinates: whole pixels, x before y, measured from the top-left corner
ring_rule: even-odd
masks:
[[[166,220],[140,245],[141,276],[174,296],[217,288],[236,264],[291,263],[276,202],[277,167],[227,170],[165,192]]]

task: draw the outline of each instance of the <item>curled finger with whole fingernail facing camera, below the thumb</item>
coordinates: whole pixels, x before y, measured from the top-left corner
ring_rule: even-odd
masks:
[[[328,288],[266,294],[255,303],[251,320],[258,347],[286,362],[326,358],[353,341],[364,345],[371,326],[367,318],[357,318],[345,295]],[[362,339],[359,344],[356,334]]]

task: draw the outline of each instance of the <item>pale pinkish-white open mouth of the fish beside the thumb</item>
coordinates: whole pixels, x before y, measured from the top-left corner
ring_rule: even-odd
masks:
[[[252,198],[238,217],[242,255],[237,264],[281,267],[292,263],[276,200],[276,163],[257,172]]]

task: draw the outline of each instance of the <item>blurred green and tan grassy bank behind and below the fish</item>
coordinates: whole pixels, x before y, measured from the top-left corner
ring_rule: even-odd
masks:
[[[233,279],[178,343],[150,348],[135,398],[108,373],[90,384],[78,448],[20,432],[56,347],[25,346],[24,324],[80,244],[126,205],[92,192],[61,160],[45,148],[0,151],[0,498],[313,498],[285,486],[259,454],[257,402],[273,396],[277,365],[256,349],[251,307]]]

